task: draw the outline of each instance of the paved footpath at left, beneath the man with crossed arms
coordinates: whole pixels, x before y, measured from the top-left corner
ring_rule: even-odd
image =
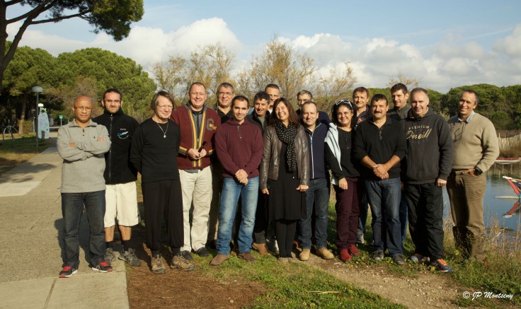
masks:
[[[56,132],[51,132],[55,141]],[[52,146],[0,177],[0,308],[129,308],[125,264],[88,267],[88,222],[80,227],[80,266],[62,269],[62,158]]]

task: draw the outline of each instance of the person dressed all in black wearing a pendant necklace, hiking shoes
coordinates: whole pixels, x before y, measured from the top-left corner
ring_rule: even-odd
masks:
[[[168,245],[172,250],[171,268],[191,271],[195,266],[181,255],[183,246],[183,194],[177,168],[181,136],[170,119],[173,99],[159,91],[150,103],[154,116],[142,122],[132,138],[130,162],[141,174],[147,247],[151,250],[151,270],[165,274],[161,258],[161,223],[166,221]]]

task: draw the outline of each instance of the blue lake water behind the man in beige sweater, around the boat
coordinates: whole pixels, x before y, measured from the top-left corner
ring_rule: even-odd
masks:
[[[515,202],[518,201],[516,194],[503,176],[521,178],[521,167],[519,163],[514,165],[493,165],[487,172],[487,183],[483,210],[485,212],[485,225],[493,224],[495,217],[500,226],[517,231],[521,227],[521,216],[519,208],[510,218],[503,218]],[[445,202],[445,214],[450,214],[450,202],[447,191],[443,192]],[[516,197],[515,199],[498,199],[496,197]]]

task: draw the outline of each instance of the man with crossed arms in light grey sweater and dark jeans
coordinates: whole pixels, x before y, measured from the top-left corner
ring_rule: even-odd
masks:
[[[82,95],[72,110],[74,119],[58,129],[57,148],[63,158],[62,215],[64,261],[60,278],[76,274],[79,267],[79,224],[84,207],[91,233],[88,250],[91,267],[112,272],[105,261],[105,158],[110,148],[107,128],[91,120],[92,101]]]

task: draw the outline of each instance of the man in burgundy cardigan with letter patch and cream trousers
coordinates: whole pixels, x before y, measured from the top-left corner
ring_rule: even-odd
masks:
[[[177,159],[183,190],[184,245],[181,255],[193,260],[190,250],[201,257],[210,252],[205,247],[208,237],[208,218],[212,202],[212,170],[210,156],[214,153],[214,133],[221,125],[217,112],[205,104],[207,93],[202,83],[190,85],[188,103],[172,112],[172,120],[179,125],[181,146]],[[193,218],[190,225],[190,209]]]

